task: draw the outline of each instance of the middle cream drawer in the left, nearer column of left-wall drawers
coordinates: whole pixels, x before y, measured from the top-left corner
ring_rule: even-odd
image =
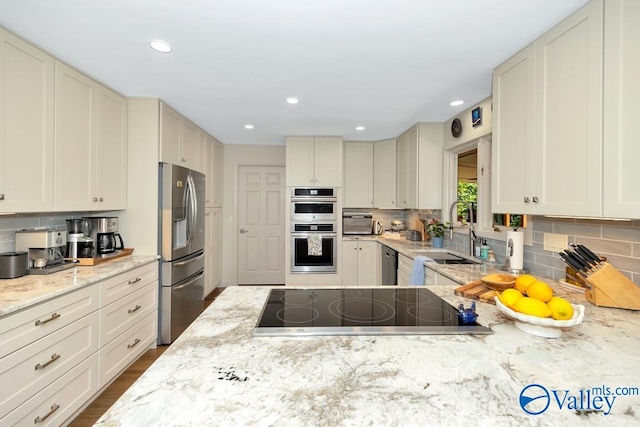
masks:
[[[97,350],[98,313],[93,312],[0,359],[0,416]]]

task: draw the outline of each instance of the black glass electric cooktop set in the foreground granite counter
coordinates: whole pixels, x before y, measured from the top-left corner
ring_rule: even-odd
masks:
[[[254,336],[492,334],[429,289],[272,289]]]

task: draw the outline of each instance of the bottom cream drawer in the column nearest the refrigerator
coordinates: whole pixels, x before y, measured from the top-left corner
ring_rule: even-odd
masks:
[[[98,352],[100,362],[99,387],[102,388],[129,363],[136,360],[158,336],[158,312],[154,311],[115,338]]]

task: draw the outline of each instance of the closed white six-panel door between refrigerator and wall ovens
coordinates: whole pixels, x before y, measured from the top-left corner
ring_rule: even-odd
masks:
[[[238,283],[284,283],[285,169],[238,170]]]

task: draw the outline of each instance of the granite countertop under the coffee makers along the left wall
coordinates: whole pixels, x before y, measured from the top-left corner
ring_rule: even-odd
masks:
[[[92,267],[77,266],[42,276],[0,280],[0,318],[157,259],[157,255],[129,255]]]

